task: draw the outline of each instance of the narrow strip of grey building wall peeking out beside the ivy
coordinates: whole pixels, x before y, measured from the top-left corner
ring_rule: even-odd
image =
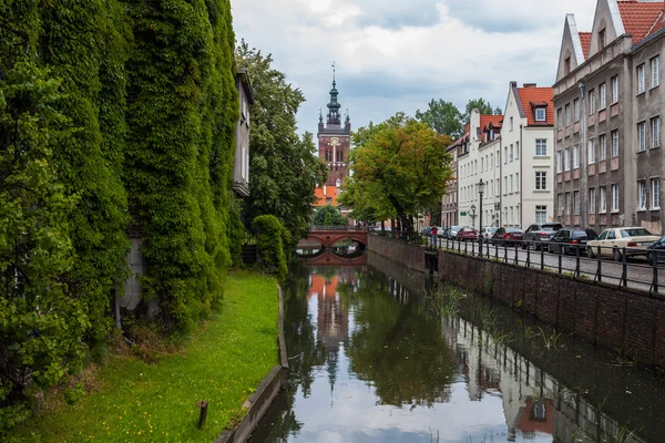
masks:
[[[241,102],[241,119],[236,123],[236,150],[233,165],[233,189],[241,197],[249,196],[249,105],[254,91],[246,69],[236,73],[236,89]]]

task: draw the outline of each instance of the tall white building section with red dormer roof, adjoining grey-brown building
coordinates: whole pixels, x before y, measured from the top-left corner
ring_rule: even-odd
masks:
[[[510,83],[501,132],[501,224],[526,229],[554,219],[552,87]]]

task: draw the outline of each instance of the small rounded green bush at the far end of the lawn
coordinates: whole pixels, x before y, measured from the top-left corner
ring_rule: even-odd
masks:
[[[266,272],[284,280],[286,278],[286,255],[284,240],[290,239],[290,234],[284,225],[273,215],[260,215],[252,223],[252,228],[257,233],[256,249],[258,251],[258,266]]]

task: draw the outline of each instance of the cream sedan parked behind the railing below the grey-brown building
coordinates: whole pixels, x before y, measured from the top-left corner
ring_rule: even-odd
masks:
[[[623,248],[626,256],[646,255],[648,246],[659,240],[661,237],[653,235],[645,228],[611,228],[601,233],[597,240],[586,244],[586,255],[595,257],[597,247],[601,246],[601,257],[612,257],[616,261],[623,260]]]

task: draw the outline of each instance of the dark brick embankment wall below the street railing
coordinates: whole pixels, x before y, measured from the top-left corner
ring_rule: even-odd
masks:
[[[424,271],[424,249],[369,236],[368,249]],[[647,292],[440,250],[438,278],[665,371],[665,300]]]

